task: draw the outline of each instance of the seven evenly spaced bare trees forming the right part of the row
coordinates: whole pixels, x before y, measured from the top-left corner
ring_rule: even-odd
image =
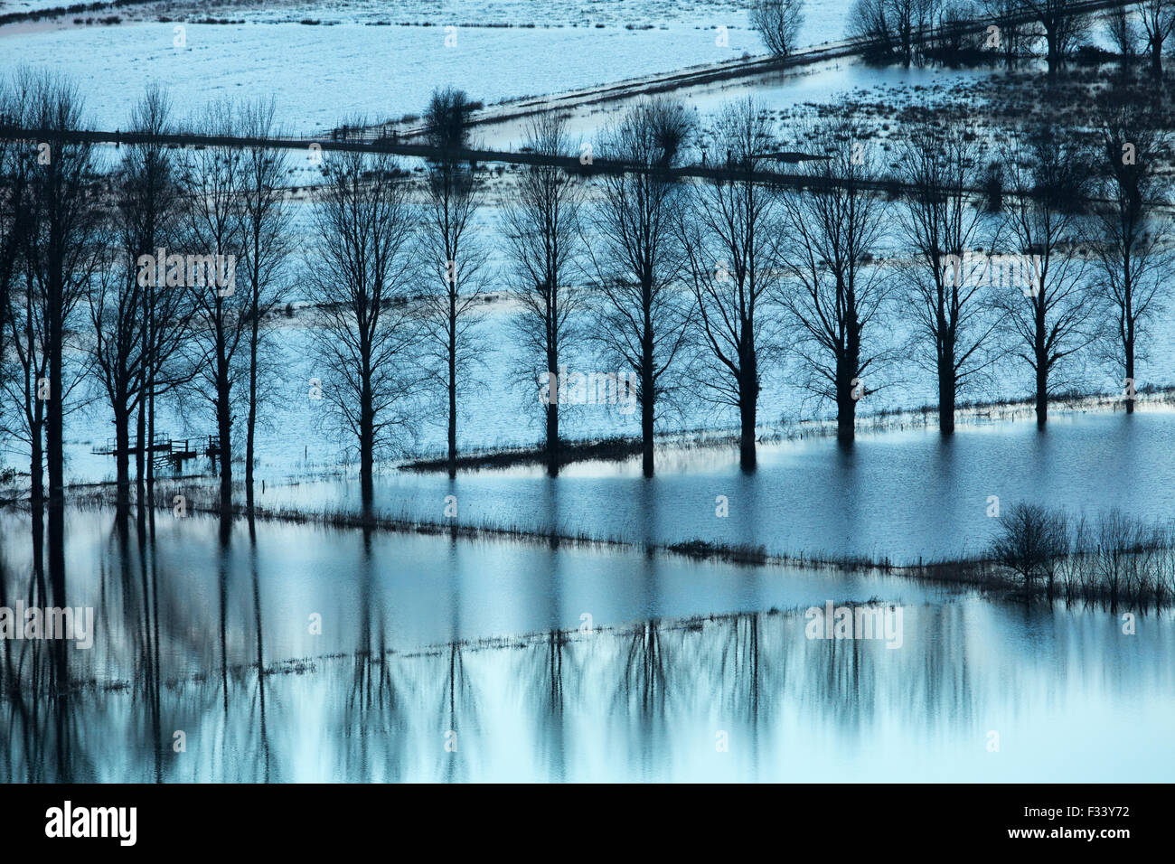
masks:
[[[1076,380],[1073,360],[1093,347],[1126,379],[1133,411],[1140,336],[1161,307],[1169,263],[1157,179],[1168,148],[1135,102],[1110,95],[1104,105],[1095,142],[1040,128],[985,153],[958,125],[922,125],[901,148],[897,203],[874,192],[879,156],[852,122],[801,128],[803,148],[819,158],[800,167],[807,188],[783,190],[760,173],[780,148],[770,118],[750,100],[727,106],[706,140],[725,165],[685,183],[672,168],[694,130],[680,107],[637,106],[605,135],[602,155],[640,168],[604,176],[592,206],[557,168],[523,178],[525,205],[508,235],[525,264],[516,288],[529,297],[533,368],[558,368],[571,310],[584,301],[558,283],[582,250],[595,340],[639,382],[646,473],[663,406],[680,394],[734,411],[741,463],[753,468],[763,376],[788,355],[805,386],[835,406],[846,442],[858,402],[899,353],[925,361],[938,382],[944,433],[960,394],[978,393],[1009,355],[1033,373],[1041,426],[1049,397]],[[566,155],[558,121],[543,122],[531,148]],[[999,213],[980,194],[993,162],[1007,187]],[[1001,248],[1008,254],[993,254]],[[888,336],[900,322],[915,328],[912,344]],[[552,467],[557,423],[549,407]]]

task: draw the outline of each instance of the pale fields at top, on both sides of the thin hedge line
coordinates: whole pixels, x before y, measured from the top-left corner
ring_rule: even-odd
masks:
[[[808,7],[803,41],[842,35],[847,4]],[[115,12],[123,24],[75,26],[66,16],[60,26],[0,29],[2,68],[51,66],[76,78],[98,126],[125,123],[155,80],[181,112],[273,93],[283,123],[313,133],[356,114],[418,113],[438,86],[492,103],[764,51],[746,12],[730,2],[153,4]],[[172,20],[159,20],[164,12]],[[243,22],[199,22],[206,18]]]

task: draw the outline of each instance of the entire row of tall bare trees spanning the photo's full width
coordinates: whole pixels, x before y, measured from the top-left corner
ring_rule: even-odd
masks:
[[[457,156],[470,103],[439,91],[425,114],[435,155],[424,178],[388,154],[331,154],[295,256],[288,156],[263,146],[271,103],[217,103],[199,118],[260,143],[175,150],[150,139],[174,128],[166,95],[150,89],[133,118],[147,138],[103,165],[63,135],[81,121],[67,85],[22,75],[12,87],[5,110],[28,112],[20,123],[39,141],[0,152],[2,421],[28,446],[36,498],[43,463],[60,493],[62,417],[87,383],[113,416],[120,495],[132,454],[140,483],[153,483],[143,443],[155,437],[156,401],[174,396],[215,417],[223,507],[243,426],[251,504],[260,408],[274,389],[270,324],[295,273],[297,299],[311,303],[324,416],[358,453],[365,500],[376,461],[418,431],[422,404],[439,407],[456,473],[491,277],[517,299],[521,377],[537,386],[588,348],[632,375],[646,475],[666,416],[699,402],[738,417],[740,462],[752,469],[764,377],[785,363],[835,407],[844,442],[859,401],[893,383],[899,355],[934,376],[947,434],[960,397],[1008,355],[1035,376],[1041,426],[1072,360],[1095,344],[1110,346],[1133,410],[1140,344],[1163,300],[1167,142],[1154,118],[1113,96],[1096,146],[1041,129],[988,153],[955,125],[920,125],[900,148],[895,201],[878,193],[880,156],[848,120],[793,129],[810,154],[795,189],[765,181],[783,141],[752,100],[727,106],[710,130],[671,100],[633,106],[598,148],[627,169],[593,183],[564,167],[575,142],[544,115],[526,147],[551,160],[519,173],[494,220],[482,175]],[[696,146],[721,155],[686,181],[677,169]],[[981,194],[993,163],[1007,193],[998,213]],[[503,239],[494,272],[490,227]],[[993,276],[996,249],[1033,262],[1021,282]],[[170,267],[145,279],[145,256],[167,250],[233,257],[235,281],[188,284],[182,260],[174,282]],[[902,342],[895,330],[913,333]],[[539,407],[553,475],[562,406]]]

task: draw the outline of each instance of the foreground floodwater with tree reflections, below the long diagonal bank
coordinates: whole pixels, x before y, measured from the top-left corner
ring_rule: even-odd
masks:
[[[49,605],[27,518],[0,528],[4,602]],[[105,510],[68,514],[66,550],[52,604],[93,607],[94,644],[0,642],[5,782],[1161,781],[1175,766],[1175,632],[1146,610],[632,551],[222,534],[199,516],[152,536]],[[810,638],[808,607],[871,601],[901,610],[885,639]]]

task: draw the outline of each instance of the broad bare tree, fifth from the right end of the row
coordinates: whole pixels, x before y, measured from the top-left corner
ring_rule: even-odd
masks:
[[[692,187],[678,232],[704,344],[696,380],[703,398],[738,411],[739,463],[751,471],[760,381],[779,329],[768,302],[779,282],[777,199],[754,174],[778,147],[771,120],[752,99],[723,109],[713,147],[730,162]]]

